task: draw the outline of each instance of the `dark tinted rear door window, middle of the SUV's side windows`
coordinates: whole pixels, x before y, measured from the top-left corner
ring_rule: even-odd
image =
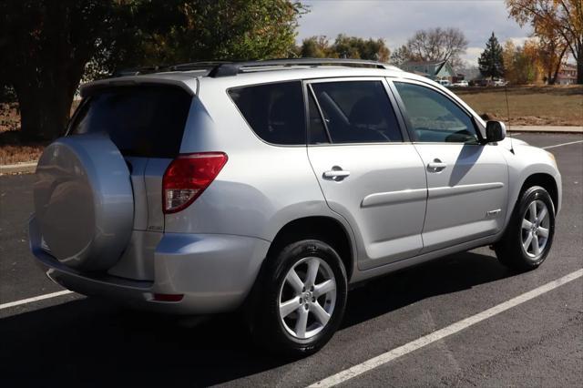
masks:
[[[314,83],[312,88],[332,143],[403,141],[382,82]]]

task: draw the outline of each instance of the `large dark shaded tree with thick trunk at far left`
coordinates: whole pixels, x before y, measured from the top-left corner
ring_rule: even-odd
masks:
[[[0,3],[0,84],[15,88],[27,138],[53,138],[66,125],[95,36],[114,6],[105,2]]]

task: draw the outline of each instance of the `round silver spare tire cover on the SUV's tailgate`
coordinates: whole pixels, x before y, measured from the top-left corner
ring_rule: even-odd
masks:
[[[134,219],[128,166],[107,135],[59,138],[36,167],[36,220],[57,260],[78,271],[112,267]]]

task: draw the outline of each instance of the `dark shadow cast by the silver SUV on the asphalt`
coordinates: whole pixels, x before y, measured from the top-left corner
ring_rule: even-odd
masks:
[[[472,252],[400,271],[351,291],[343,329],[508,276],[494,257]],[[193,322],[94,298],[8,316],[0,320],[3,385],[206,386],[290,362],[257,350],[236,315]]]

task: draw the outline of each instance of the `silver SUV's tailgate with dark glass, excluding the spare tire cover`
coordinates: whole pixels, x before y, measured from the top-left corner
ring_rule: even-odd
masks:
[[[79,107],[69,136],[103,133],[126,159],[134,230],[164,230],[162,176],[179,154],[192,96],[164,84],[97,89]]]

